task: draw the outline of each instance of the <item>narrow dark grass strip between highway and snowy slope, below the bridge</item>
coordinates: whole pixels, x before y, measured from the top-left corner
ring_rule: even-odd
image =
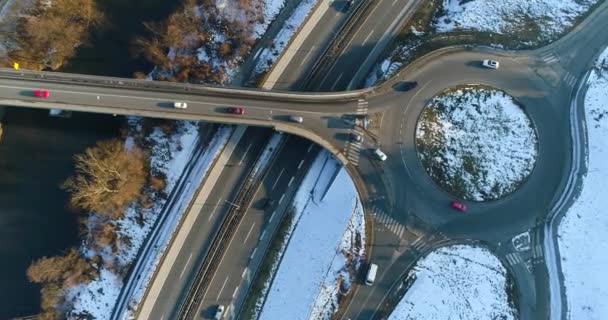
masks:
[[[239,314],[240,319],[257,319],[256,314],[259,315],[258,312],[260,311],[257,308],[257,302],[261,298],[265,299],[265,297],[262,296],[265,283],[270,279],[273,279],[275,276],[274,272],[276,272],[276,269],[274,268],[274,265],[275,263],[278,263],[275,261],[281,259],[281,255],[284,252],[282,250],[283,244],[289,240],[289,229],[293,223],[293,219],[294,212],[292,208],[283,217],[283,220],[276,231],[276,236],[270,243],[268,251],[266,251],[264,260],[258,269],[258,273],[253,279],[247,297],[245,298],[245,302],[243,303],[243,308]]]

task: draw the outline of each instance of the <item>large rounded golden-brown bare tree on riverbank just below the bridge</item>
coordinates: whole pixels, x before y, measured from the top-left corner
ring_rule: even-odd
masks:
[[[61,186],[70,192],[70,204],[111,219],[142,195],[146,180],[145,155],[136,146],[118,140],[98,142],[74,157],[76,172]]]

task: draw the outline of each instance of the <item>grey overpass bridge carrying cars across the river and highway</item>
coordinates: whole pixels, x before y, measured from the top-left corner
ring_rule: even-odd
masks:
[[[37,89],[48,90],[50,96],[35,97],[33,91]],[[341,116],[355,113],[370,92],[271,92],[0,69],[0,103],[4,105],[273,127],[318,143],[344,165],[349,163],[342,152],[345,140],[336,138],[337,131],[348,131]],[[186,102],[188,108],[174,108],[175,101]],[[245,114],[227,113],[233,106],[244,107]],[[303,123],[290,122],[290,115],[301,116]]]

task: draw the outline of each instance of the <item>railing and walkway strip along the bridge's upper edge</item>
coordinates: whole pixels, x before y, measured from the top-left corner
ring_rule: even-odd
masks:
[[[89,87],[106,87],[117,90],[138,89],[163,91],[180,94],[196,94],[220,97],[232,97],[251,100],[281,100],[294,102],[339,102],[352,101],[363,96],[369,89],[348,92],[327,93],[290,93],[287,91],[262,91],[250,88],[227,88],[210,85],[152,81],[141,79],[125,79],[115,77],[91,76],[49,71],[14,70],[0,68],[0,79],[37,81],[82,85]]]

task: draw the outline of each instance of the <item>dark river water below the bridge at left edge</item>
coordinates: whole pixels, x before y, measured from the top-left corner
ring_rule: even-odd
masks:
[[[0,319],[38,312],[40,287],[27,281],[27,267],[78,245],[77,216],[65,208],[59,184],[73,172],[73,155],[117,136],[119,121],[7,109],[0,141]]]

